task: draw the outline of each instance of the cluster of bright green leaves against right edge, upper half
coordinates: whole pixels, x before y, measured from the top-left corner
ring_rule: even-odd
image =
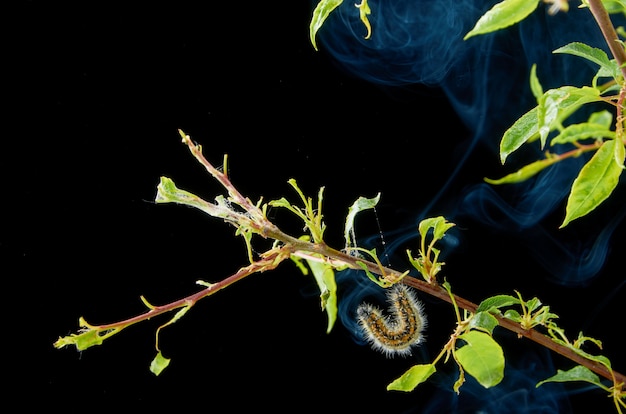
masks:
[[[622,112],[621,104],[617,105],[618,96],[611,95],[611,92],[621,93],[623,78],[615,60],[609,60],[601,49],[575,42],[556,49],[554,53],[580,56],[597,63],[600,68],[591,86],[562,86],[544,92],[536,77],[536,66],[533,66],[530,84],[537,98],[537,106],[524,114],[504,133],[500,142],[500,160],[504,164],[511,153],[522,145],[537,140],[541,148],[545,149],[550,136],[552,136],[549,141],[551,148],[565,146],[572,149],[561,153],[546,151],[544,159],[532,162],[500,179],[485,181],[491,184],[525,181],[557,162],[593,152],[593,156],[581,168],[572,184],[562,228],[572,220],[595,210],[611,195],[624,171],[626,154],[621,124],[616,129],[611,129],[615,125],[613,116],[608,110],[592,113],[585,122],[571,123],[567,126],[564,124],[567,118],[584,105],[593,102],[606,102],[616,106],[621,122],[619,115]],[[607,76],[610,76],[611,80],[598,85],[598,80]],[[616,131],[619,131],[619,135]]]

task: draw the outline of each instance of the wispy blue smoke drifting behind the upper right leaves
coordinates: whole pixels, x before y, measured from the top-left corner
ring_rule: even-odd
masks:
[[[619,207],[615,218],[597,223],[597,231],[586,234],[585,241],[564,243],[542,227],[546,217],[563,209],[583,158],[552,166],[536,179],[511,186],[512,190],[496,191],[486,184],[469,183],[463,184],[466,189],[462,194],[449,192],[477,146],[487,148],[497,159],[504,131],[536,105],[528,86],[533,64],[537,64],[544,90],[588,85],[597,67],[581,58],[552,51],[574,41],[607,49],[587,9],[571,7],[567,13],[548,15],[542,5],[517,25],[464,41],[463,36],[495,3],[371,2],[370,39],[363,37],[365,29],[357,10],[352,4],[343,3],[325,23],[319,37],[332,59],[357,77],[391,87],[421,84],[439,88],[466,125],[468,143],[455,162],[455,170],[428,204],[416,211],[417,221],[442,214],[438,209],[445,204],[452,210],[446,211],[451,221],[471,218],[509,233],[530,229],[526,232],[529,239],[522,244],[535,247],[531,252],[539,254],[538,264],[559,283],[583,284],[602,268],[610,235],[623,217]],[[538,149],[529,152],[523,154],[527,158],[517,154],[510,157],[510,163],[519,164],[507,165],[502,175],[541,157]],[[543,243],[550,247],[544,250]],[[548,251],[549,258],[542,253]],[[581,255],[586,259],[578,259]]]

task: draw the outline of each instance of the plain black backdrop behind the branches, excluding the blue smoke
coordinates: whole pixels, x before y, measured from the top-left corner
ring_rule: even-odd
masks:
[[[196,280],[220,280],[246,263],[232,228],[153,203],[160,176],[207,199],[220,192],[180,143],[178,128],[216,165],[227,153],[233,183],[254,200],[295,199],[289,178],[310,195],[325,186],[328,242],[341,246],[342,219],[357,197],[382,193],[377,219],[387,232],[408,228],[445,183],[468,134],[441,93],[416,87],[390,94],[343,73],[311,47],[306,2],[20,6],[6,42],[5,87],[17,93],[8,95],[0,155],[9,303],[3,336],[16,368],[9,397],[26,397],[24,407],[175,404],[212,412],[395,413],[429,404],[437,390],[431,385],[385,391],[414,362],[354,343],[340,323],[325,333],[313,279],[290,263],[201,301],[164,330],[161,349],[172,364],[160,377],[148,370],[156,320],[82,353],[52,343],[74,332],[79,316],[94,324],[126,318],[144,310],[140,295],[166,303],[193,293]],[[429,132],[438,117],[446,119],[445,139]],[[500,175],[498,168],[493,152],[479,147],[455,185]],[[286,214],[270,216],[298,235]],[[447,259],[458,294],[473,301],[513,289],[538,295],[572,336],[581,322],[602,339],[624,370],[614,332],[623,329],[624,291],[607,296],[622,279],[616,255],[591,285],[555,286],[523,249],[470,224]],[[360,226],[361,236],[378,233],[372,215]],[[623,234],[621,225],[616,252]],[[432,358],[454,316],[425,301],[431,327],[424,352]],[[593,323],[585,319],[590,309],[597,309]],[[569,367],[558,357],[554,363]],[[574,407],[582,401],[611,409],[603,394],[571,398]]]

